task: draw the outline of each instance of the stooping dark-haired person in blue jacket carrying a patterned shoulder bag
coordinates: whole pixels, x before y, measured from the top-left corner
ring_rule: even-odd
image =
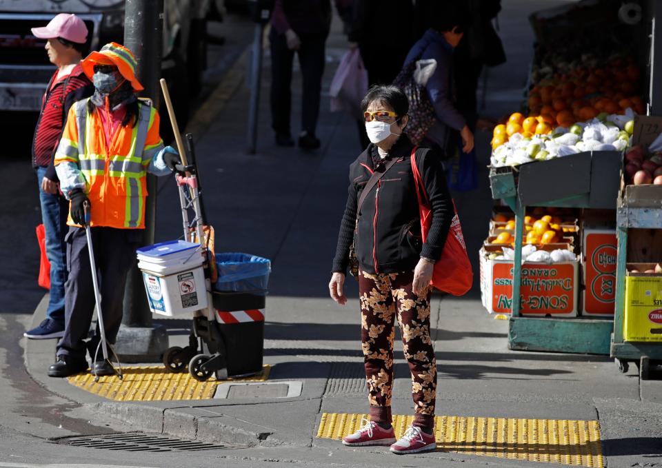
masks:
[[[454,154],[459,132],[465,153],[474,147],[474,135],[459,112],[455,98],[453,50],[460,43],[468,15],[458,3],[435,2],[430,6],[432,25],[409,51],[405,64],[413,60],[434,59],[437,67],[425,84],[434,108],[435,123],[421,145],[432,147],[443,159]]]

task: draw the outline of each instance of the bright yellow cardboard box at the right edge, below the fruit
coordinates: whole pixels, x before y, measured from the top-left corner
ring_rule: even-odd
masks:
[[[640,269],[654,268],[654,263],[628,263]],[[662,274],[625,274],[625,341],[662,342]]]

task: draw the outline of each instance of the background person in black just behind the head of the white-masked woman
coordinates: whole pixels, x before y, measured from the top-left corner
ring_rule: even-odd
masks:
[[[348,40],[350,48],[358,47],[368,88],[388,85],[398,76],[407,53],[414,43],[412,27],[414,5],[411,0],[356,0],[354,20]],[[397,31],[397,34],[394,32]],[[361,150],[370,140],[363,119],[357,120]]]

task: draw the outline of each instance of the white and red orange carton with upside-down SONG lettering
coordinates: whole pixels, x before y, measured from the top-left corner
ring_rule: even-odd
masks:
[[[558,245],[556,248],[559,248]],[[554,250],[551,246],[544,248]],[[479,253],[481,301],[490,314],[510,314],[513,263],[488,258],[491,252],[498,251],[499,247],[486,245]],[[525,262],[522,265],[520,312],[524,316],[574,317],[578,310],[578,291],[578,261],[552,265]]]

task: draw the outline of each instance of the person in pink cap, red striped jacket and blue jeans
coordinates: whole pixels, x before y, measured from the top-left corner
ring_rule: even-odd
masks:
[[[53,156],[69,108],[91,96],[94,86],[80,62],[86,51],[88,28],[75,14],[61,13],[32,34],[47,39],[46,52],[57,66],[41,101],[41,112],[32,139],[32,166],[37,172],[41,218],[46,228],[46,256],[50,261],[50,297],[46,319],[24,334],[28,338],[61,338],[64,334],[64,283],[67,280],[65,234],[69,203],[59,192]]]

